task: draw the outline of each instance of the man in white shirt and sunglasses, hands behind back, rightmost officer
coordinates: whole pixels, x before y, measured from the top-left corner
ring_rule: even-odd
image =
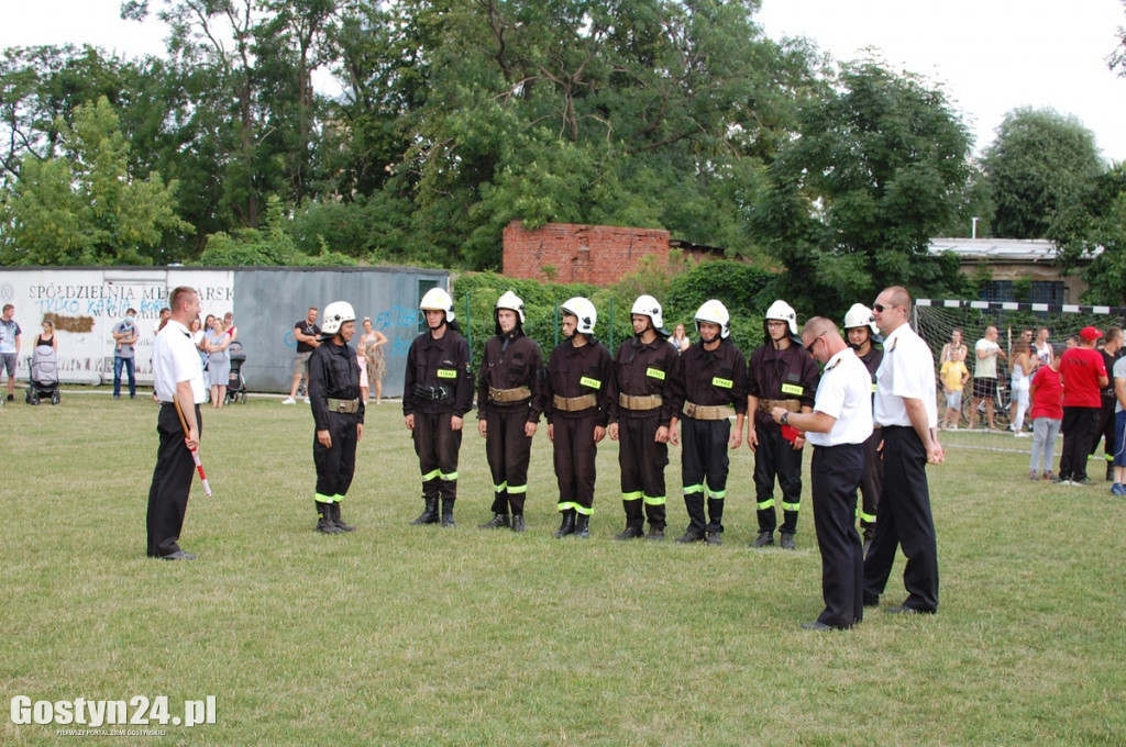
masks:
[[[884,333],[884,360],[876,371],[873,417],[884,434],[884,486],[876,513],[876,537],[864,561],[864,603],[879,604],[895,554],[908,558],[908,598],[892,613],[938,611],[938,542],[930,512],[927,465],[944,461],[938,443],[935,357],[908,324],[911,294],[892,286],[873,312]],[[995,330],[994,330],[995,332]]]

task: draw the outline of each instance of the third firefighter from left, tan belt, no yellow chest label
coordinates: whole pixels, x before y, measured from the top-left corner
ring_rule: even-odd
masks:
[[[493,309],[497,336],[485,343],[477,379],[477,432],[493,478],[493,518],[479,526],[522,532],[528,495],[531,436],[540,414],[544,361],[539,345],[524,334],[524,302],[509,290]],[[509,520],[509,507],[512,518]]]

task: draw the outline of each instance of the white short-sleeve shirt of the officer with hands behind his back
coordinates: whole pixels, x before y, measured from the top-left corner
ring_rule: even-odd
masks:
[[[884,340],[884,360],[876,370],[876,423],[912,428],[904,397],[921,399],[927,425],[938,425],[935,356],[910,324],[901,324]]]

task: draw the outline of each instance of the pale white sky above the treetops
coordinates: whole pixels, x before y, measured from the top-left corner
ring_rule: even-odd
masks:
[[[159,0],[152,0],[159,7]],[[120,0],[0,0],[0,48],[81,45],[162,55],[167,27],[123,21]],[[876,50],[942,86],[980,152],[1018,107],[1074,115],[1107,161],[1126,161],[1126,78],[1107,69],[1126,26],[1119,0],[762,0],[768,36],[804,36],[839,61]]]

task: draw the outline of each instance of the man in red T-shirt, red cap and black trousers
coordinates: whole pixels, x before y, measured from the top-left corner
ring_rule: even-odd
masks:
[[[1060,378],[1063,380],[1063,453],[1060,454],[1057,485],[1091,484],[1087,477],[1087,452],[1099,424],[1102,399],[1099,390],[1107,386],[1107,367],[1094,342],[1102,332],[1092,326],[1079,332],[1079,346],[1063,354]]]

